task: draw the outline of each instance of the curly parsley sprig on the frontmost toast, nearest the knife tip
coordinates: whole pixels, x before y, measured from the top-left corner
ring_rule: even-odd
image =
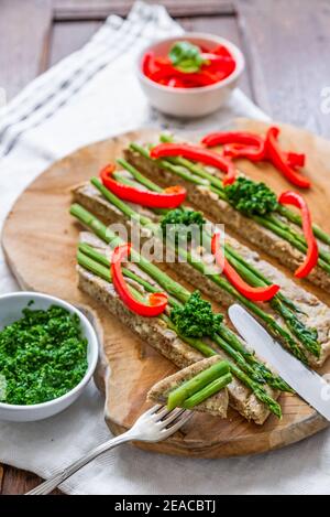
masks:
[[[215,314],[210,302],[195,291],[183,306],[170,311],[170,320],[179,334],[187,337],[212,337],[220,330],[222,314]]]

